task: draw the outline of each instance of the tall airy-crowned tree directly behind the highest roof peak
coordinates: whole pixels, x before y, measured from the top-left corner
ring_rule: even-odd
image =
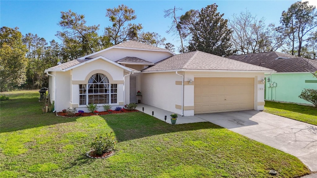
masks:
[[[135,20],[135,11],[128,6],[121,4],[118,8],[107,9],[106,17],[112,22],[112,26],[105,28],[105,35],[113,45],[120,44],[127,40],[138,40],[141,24],[128,23]]]

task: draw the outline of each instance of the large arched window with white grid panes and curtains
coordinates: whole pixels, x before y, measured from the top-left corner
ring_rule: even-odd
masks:
[[[79,105],[111,103],[117,103],[117,84],[110,84],[106,75],[96,73],[79,85]]]

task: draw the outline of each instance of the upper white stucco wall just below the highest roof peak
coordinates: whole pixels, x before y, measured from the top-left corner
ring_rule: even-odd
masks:
[[[142,51],[142,50],[131,50],[131,49],[109,49],[107,51],[95,54],[90,56],[90,58],[103,56],[112,61],[117,61],[125,57],[138,57],[149,62],[158,62],[167,57],[170,57],[171,54],[167,52],[157,52],[157,51]]]

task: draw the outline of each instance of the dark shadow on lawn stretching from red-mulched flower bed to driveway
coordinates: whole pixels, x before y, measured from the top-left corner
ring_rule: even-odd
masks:
[[[143,112],[101,116],[114,131],[118,142],[186,130],[223,129],[210,122],[171,125]],[[199,137],[199,136],[197,136]]]

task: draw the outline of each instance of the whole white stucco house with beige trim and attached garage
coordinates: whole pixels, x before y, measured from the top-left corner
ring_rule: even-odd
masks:
[[[200,51],[175,54],[127,41],[45,70],[55,111],[129,103],[184,116],[263,110],[264,73],[274,70]],[[137,98],[137,91],[142,96]],[[99,111],[103,111],[100,107]]]

